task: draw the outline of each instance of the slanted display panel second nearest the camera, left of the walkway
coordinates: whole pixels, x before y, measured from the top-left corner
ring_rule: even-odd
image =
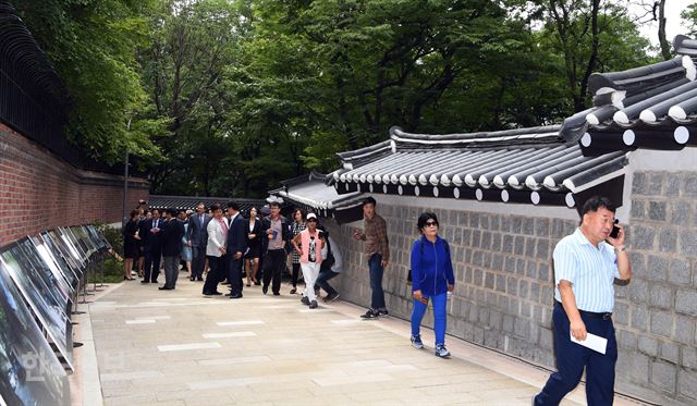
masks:
[[[34,267],[26,266],[24,254],[17,244],[12,244],[0,251],[0,261],[48,333],[50,341],[56,344],[70,369],[74,370],[72,324],[65,315],[65,304],[56,299],[53,292],[37,274]]]

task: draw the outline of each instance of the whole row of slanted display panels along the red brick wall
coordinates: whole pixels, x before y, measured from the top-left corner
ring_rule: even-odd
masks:
[[[0,248],[1,405],[70,403],[72,306],[89,258],[105,248],[111,247],[91,225],[45,231]]]

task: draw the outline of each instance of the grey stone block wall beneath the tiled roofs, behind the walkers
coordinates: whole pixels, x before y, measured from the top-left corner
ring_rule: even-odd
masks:
[[[660,404],[697,402],[697,174],[635,173],[627,226],[634,278],[615,286],[613,320],[620,357],[616,390]],[[530,207],[530,213],[543,208]],[[525,360],[554,367],[552,251],[576,221],[378,204],[388,222],[391,263],[383,286],[390,313],[408,319],[406,283],[416,218],[433,211],[449,239],[455,293],[448,333]],[[360,223],[330,225],[342,247],[342,298],[368,306],[370,287]],[[428,315],[424,324],[432,325]]]

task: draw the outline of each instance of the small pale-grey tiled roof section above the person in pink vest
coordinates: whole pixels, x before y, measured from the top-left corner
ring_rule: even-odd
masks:
[[[283,200],[322,217],[332,217],[341,224],[360,219],[363,194],[340,195],[330,185],[333,179],[313,172],[281,182],[282,187],[269,192],[270,200]]]

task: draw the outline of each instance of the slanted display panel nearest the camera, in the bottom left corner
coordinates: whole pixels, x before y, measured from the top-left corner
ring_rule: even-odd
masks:
[[[7,405],[68,405],[65,371],[0,261],[0,396]]]

